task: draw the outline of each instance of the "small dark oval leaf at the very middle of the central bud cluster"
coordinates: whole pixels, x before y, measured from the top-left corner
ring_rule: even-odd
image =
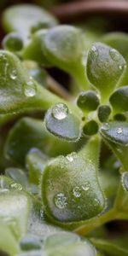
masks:
[[[108,105],[102,105],[98,108],[98,118],[103,122],[107,122],[108,117],[111,113],[111,108]]]

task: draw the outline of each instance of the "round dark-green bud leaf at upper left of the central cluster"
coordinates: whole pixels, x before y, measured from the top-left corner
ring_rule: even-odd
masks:
[[[96,110],[100,101],[95,91],[86,90],[79,94],[77,104],[84,112],[90,112]]]

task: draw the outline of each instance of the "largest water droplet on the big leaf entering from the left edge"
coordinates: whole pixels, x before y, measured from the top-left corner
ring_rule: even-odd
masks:
[[[36,95],[36,84],[33,81],[28,81],[23,84],[23,91],[26,97],[33,97]]]

